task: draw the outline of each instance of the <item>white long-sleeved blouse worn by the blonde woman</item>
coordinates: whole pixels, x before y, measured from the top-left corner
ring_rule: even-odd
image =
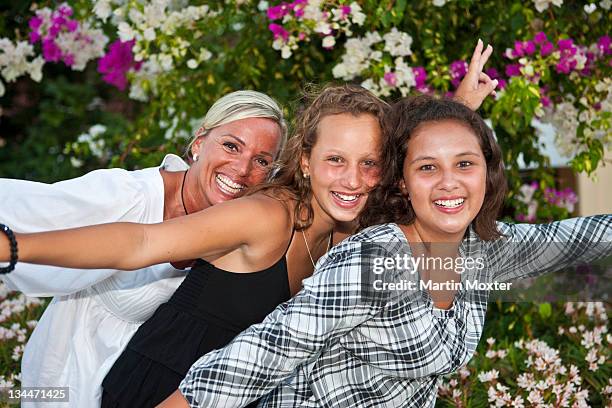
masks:
[[[161,166],[188,165],[167,155]],[[159,168],[96,170],[54,184],[0,179],[0,222],[16,232],[116,221],[163,220]],[[98,407],[102,380],[138,327],[174,293],[184,271],[170,264],[137,271],[81,270],[17,263],[2,279],[28,296],[55,296],[32,333],[22,360],[24,387],[69,387],[69,403],[22,407]]]

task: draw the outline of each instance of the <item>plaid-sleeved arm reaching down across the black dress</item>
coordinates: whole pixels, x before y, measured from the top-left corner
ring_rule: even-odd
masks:
[[[200,358],[180,386],[191,406],[244,406],[377,314],[382,304],[362,297],[361,250],[354,241],[332,249],[293,299]]]

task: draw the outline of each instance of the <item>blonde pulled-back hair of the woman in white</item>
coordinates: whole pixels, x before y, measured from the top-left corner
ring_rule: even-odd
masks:
[[[219,98],[206,112],[199,129],[187,146],[185,154],[188,159],[193,160],[191,148],[198,138],[206,136],[216,127],[248,118],[267,118],[278,124],[281,131],[280,153],[287,142],[287,124],[278,103],[261,92],[236,91]]]

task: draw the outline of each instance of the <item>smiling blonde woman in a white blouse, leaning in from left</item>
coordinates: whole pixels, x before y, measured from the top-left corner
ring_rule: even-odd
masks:
[[[167,155],[159,167],[96,170],[55,184],[0,179],[0,222],[19,232],[108,222],[158,223],[244,195],[263,182],[286,139],[278,104],[238,91],[219,99],[191,141],[189,166]],[[185,278],[169,263],[125,272],[20,263],[3,276],[29,296],[54,296],[30,337],[22,384],[69,387],[61,407],[100,405],[102,380],[138,327]],[[53,407],[53,402],[24,403]]]

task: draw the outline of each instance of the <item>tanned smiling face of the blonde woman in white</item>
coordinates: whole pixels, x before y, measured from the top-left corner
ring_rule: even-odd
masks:
[[[212,129],[194,143],[198,160],[200,209],[240,197],[248,187],[262,183],[277,156],[280,127],[271,119],[240,119]]]

